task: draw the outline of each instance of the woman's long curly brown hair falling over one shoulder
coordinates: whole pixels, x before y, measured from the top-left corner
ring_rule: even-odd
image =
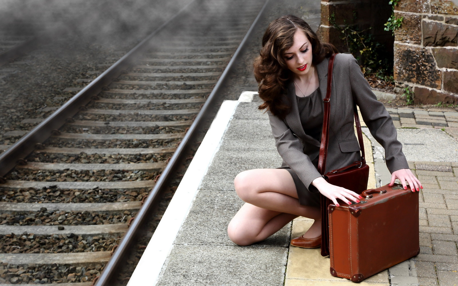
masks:
[[[270,22],[262,37],[262,48],[256,57],[254,74],[259,84],[259,97],[264,101],[259,109],[267,109],[284,119],[290,106],[282,101],[286,82],[291,71],[284,61],[284,53],[294,43],[294,33],[304,31],[312,46],[312,63],[318,64],[338,50],[331,43],[321,43],[307,22],[293,15],[286,15]]]

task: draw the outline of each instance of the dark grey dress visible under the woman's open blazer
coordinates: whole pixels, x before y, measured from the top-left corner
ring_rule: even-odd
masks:
[[[302,124],[305,134],[321,141],[323,128],[323,103],[320,89],[317,88],[306,97],[296,96],[296,99],[299,109],[300,123]],[[312,163],[314,165],[318,165],[318,157],[316,157]],[[320,206],[320,194],[318,192],[310,192],[293,170],[289,168],[286,170],[291,174],[291,177],[293,177],[299,200],[304,202],[305,205]]]

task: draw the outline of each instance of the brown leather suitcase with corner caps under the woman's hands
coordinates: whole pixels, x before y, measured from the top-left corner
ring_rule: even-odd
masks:
[[[420,253],[418,192],[365,190],[360,203],[328,206],[331,275],[360,282]]]

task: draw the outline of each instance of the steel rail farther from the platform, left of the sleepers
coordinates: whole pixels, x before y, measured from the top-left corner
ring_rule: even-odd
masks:
[[[17,164],[18,160],[25,158],[33,150],[38,148],[38,143],[43,143],[49,136],[52,135],[54,130],[58,130],[62,125],[66,123],[68,118],[71,118],[80,108],[89,103],[94,96],[101,92],[105,86],[108,86],[114,78],[118,77],[122,70],[127,68],[131,64],[131,61],[136,55],[142,53],[149,48],[148,43],[158,32],[162,31],[164,27],[173,22],[174,19],[183,13],[191,3],[196,0],[191,0],[183,8],[180,9],[174,16],[168,21],[164,22],[154,32],[149,34],[142,42],[138,43],[133,49],[127,54],[120,58],[114,65],[110,66],[94,81],[84,87],[68,102],[58,108],[48,118],[44,119],[40,124],[35,126],[30,132],[24,135],[10,148],[0,154],[0,178],[5,176],[6,173],[10,172]],[[24,162],[24,161],[22,161]],[[3,180],[3,179],[2,179]],[[0,180],[1,181],[1,180]]]

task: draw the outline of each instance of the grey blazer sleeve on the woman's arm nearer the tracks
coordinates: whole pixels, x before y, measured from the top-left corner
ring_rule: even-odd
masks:
[[[321,174],[316,170],[316,167],[311,162],[309,156],[304,154],[303,146],[292,130],[277,116],[269,115],[269,123],[272,128],[272,135],[275,138],[275,146],[283,161],[293,170],[305,187],[311,192],[317,192],[315,186],[311,182],[321,177]]]

